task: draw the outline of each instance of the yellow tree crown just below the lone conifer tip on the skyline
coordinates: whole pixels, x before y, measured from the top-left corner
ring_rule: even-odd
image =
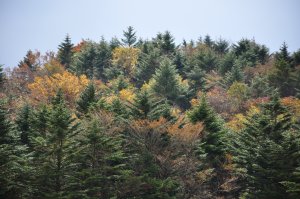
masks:
[[[117,47],[112,54],[112,63],[122,66],[129,74],[135,69],[140,50],[138,48]]]

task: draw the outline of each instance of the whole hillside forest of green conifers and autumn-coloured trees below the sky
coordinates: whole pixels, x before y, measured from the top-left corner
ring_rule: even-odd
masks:
[[[57,46],[0,65],[0,198],[300,198],[300,49],[131,26]]]

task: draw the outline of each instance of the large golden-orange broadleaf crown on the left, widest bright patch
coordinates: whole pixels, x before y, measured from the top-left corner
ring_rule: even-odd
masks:
[[[77,77],[67,71],[55,73],[52,76],[35,77],[34,82],[28,85],[34,100],[47,102],[61,89],[69,103],[73,103],[89,80],[85,75]]]

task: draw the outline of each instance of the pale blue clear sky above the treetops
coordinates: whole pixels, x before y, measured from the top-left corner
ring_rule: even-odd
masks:
[[[0,0],[0,64],[15,67],[26,52],[122,37],[133,26],[151,39],[169,30],[177,44],[209,34],[235,43],[255,39],[271,52],[285,41],[300,49],[299,0]]]

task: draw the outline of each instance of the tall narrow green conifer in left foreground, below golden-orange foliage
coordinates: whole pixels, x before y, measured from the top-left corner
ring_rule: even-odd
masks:
[[[33,139],[35,146],[36,198],[62,198],[66,194],[66,176],[71,172],[72,155],[76,152],[74,136],[78,124],[65,106],[61,90],[52,100],[46,134]]]

